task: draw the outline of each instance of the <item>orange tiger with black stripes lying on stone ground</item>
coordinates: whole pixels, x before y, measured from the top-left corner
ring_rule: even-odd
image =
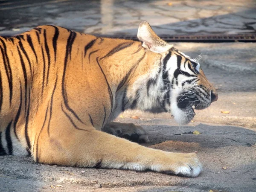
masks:
[[[148,22],[140,23],[137,38],[52,25],[0,37],[0,155],[197,177],[197,154],[145,147],[142,127],[113,122],[138,109],[170,113],[184,125],[194,109],[218,99],[198,61],[162,40]]]

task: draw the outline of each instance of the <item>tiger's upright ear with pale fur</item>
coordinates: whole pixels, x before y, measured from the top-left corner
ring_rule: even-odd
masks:
[[[173,47],[158,37],[147,21],[140,23],[137,37],[143,42],[142,46],[152,52],[166,52]]]

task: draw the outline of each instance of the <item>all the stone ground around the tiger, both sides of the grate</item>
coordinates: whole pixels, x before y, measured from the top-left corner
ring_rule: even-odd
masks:
[[[101,35],[134,35],[141,20],[148,20],[163,35],[239,34],[256,29],[253,0],[0,0],[0,12],[0,35],[41,24]],[[196,111],[194,122],[181,127],[167,113],[126,111],[116,121],[143,126],[151,140],[144,144],[148,147],[198,151],[204,166],[199,177],[49,166],[30,157],[2,156],[0,191],[256,192],[256,44],[175,43],[175,47],[193,57],[207,55],[200,63],[218,89],[218,101]],[[131,119],[133,115],[140,119]],[[195,130],[201,134],[191,134]]]

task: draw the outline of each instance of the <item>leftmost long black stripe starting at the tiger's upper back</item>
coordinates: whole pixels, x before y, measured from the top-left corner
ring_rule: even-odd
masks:
[[[8,83],[9,83],[9,91],[10,91],[10,105],[12,104],[12,68],[10,65],[9,57],[7,55],[7,48],[5,42],[0,38],[0,41],[3,44],[3,49],[1,48],[1,52],[3,55],[3,61],[5,65],[6,75],[8,77]]]

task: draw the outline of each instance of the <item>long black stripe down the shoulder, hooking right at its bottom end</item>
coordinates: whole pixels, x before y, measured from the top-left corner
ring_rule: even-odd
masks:
[[[63,70],[63,75],[62,75],[61,91],[62,91],[62,96],[63,96],[63,99],[64,99],[64,104],[65,104],[65,107],[67,108],[67,110],[70,111],[76,117],[76,119],[78,119],[81,123],[84,123],[84,122],[81,121],[79,116],[75,113],[75,111],[73,111],[73,109],[70,108],[70,106],[68,105],[67,92],[65,90],[65,75],[66,75],[66,70],[67,70],[67,58],[68,58],[69,54],[71,53],[72,45],[75,41],[75,38],[76,38],[76,33],[70,31],[70,36],[67,39],[66,55],[65,55],[65,59],[64,59],[64,70]]]

